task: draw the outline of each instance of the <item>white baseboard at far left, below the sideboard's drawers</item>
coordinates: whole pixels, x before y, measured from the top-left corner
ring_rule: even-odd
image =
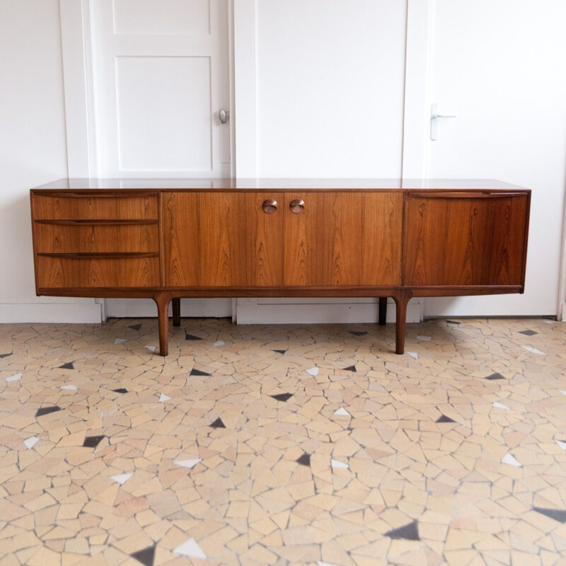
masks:
[[[74,302],[76,301],[76,302]],[[100,304],[93,299],[0,304],[0,323],[100,323]]]

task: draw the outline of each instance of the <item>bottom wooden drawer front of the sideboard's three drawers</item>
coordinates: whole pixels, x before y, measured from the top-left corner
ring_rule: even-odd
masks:
[[[37,256],[37,287],[159,286],[158,258],[71,259]]]

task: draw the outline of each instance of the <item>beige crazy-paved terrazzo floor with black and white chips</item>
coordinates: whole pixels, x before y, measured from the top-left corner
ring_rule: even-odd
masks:
[[[0,325],[0,564],[564,566],[566,324]]]

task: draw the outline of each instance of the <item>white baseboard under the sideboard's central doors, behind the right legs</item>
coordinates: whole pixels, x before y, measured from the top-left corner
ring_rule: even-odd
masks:
[[[238,324],[375,323],[379,315],[377,299],[238,299]],[[422,320],[420,299],[412,299],[407,322]],[[395,322],[395,302],[388,299],[387,322]]]

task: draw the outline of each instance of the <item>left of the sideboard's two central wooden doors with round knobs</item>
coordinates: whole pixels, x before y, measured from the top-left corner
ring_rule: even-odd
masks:
[[[167,287],[281,287],[283,211],[261,192],[165,192]]]

